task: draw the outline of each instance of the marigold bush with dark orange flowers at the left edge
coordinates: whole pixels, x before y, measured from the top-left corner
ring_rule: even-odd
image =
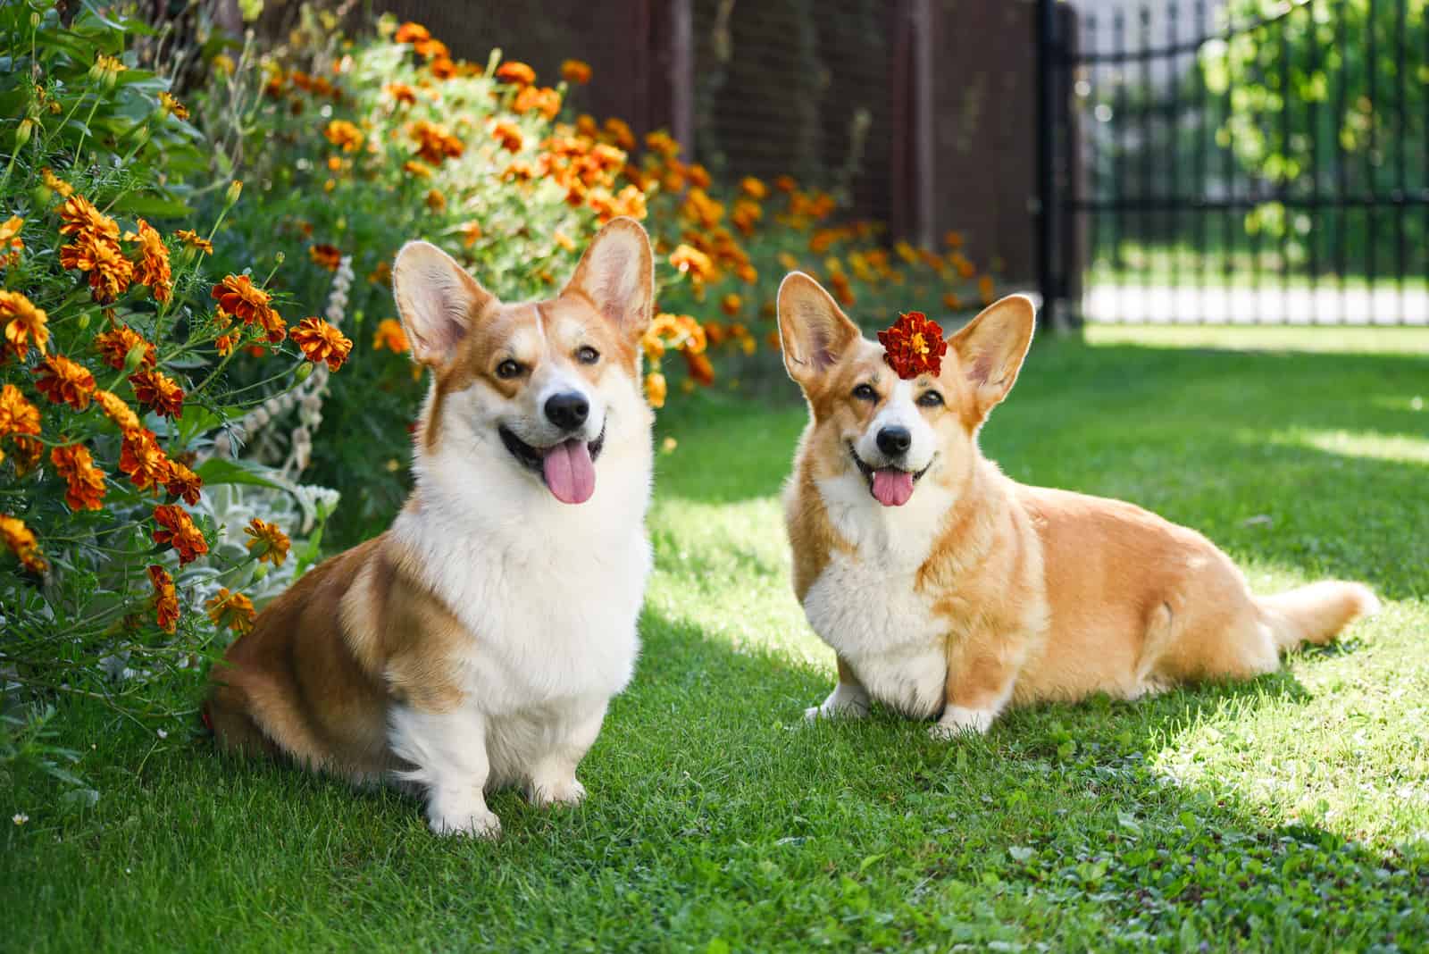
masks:
[[[284,344],[262,280],[204,267],[240,186],[203,224],[187,217],[207,156],[167,81],[126,46],[146,31],[94,6],[67,27],[53,4],[0,6],[0,101],[16,117],[0,127],[7,707],[69,693],[164,716],[176,703],[156,684],[189,684],[216,633],[252,621],[242,590],[293,573],[257,583],[287,538],[244,546],[223,486],[267,478],[211,448],[266,397],[224,374],[234,356],[262,356],[266,388],[312,366]],[[0,760],[43,751],[39,724],[21,720],[14,737],[30,743]]]

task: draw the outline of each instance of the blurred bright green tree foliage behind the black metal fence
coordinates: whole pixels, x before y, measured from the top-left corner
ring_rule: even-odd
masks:
[[[1290,199],[1339,184],[1380,199],[1425,187],[1429,0],[1235,0],[1223,16],[1262,23],[1208,43],[1199,64],[1222,113],[1218,146],[1245,170]],[[1252,234],[1289,236],[1295,260],[1315,241],[1310,216],[1283,201],[1262,203],[1245,224]],[[1412,247],[1423,244],[1419,216],[1402,224]],[[1360,217],[1339,226],[1356,253],[1395,237]]]

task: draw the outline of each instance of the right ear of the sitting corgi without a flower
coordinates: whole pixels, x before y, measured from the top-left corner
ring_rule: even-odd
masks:
[[[630,338],[644,334],[654,310],[654,256],[640,223],[612,219],[590,240],[560,294],[584,296]]]

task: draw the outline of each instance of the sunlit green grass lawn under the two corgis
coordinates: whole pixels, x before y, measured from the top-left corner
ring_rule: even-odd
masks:
[[[30,815],[0,835],[0,945],[1423,950],[1429,358],[1386,340],[1042,343],[983,438],[1019,480],[1203,530],[1258,590],[1385,597],[1280,674],[955,743],[880,711],[805,725],[833,654],[777,506],[803,408],[702,396],[662,420],[644,653],[583,807],[500,794],[500,843],[437,840],[397,794],[71,708],[61,741],[101,797],[0,787],[3,817]]]

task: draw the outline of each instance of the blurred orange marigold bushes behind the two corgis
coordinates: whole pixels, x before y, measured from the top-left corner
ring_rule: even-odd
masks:
[[[224,263],[284,261],[297,301],[324,294],[350,257],[350,367],[333,383],[312,478],[343,491],[336,543],[380,530],[406,494],[404,446],[424,384],[407,360],[389,287],[400,244],[427,239],[506,300],[550,296],[616,214],[657,251],[660,317],[646,338],[647,396],[783,378],[775,293],[790,268],[822,277],[846,307],[886,324],[909,298],[929,311],[987,300],[992,278],[959,251],[897,243],[873,223],[837,224],[837,203],[790,177],[714,183],[663,131],[637,143],[619,117],[577,113],[589,66],[543,86],[493,51],[453,61],[420,24],[379,21],[347,39],[307,13],[290,44],[221,63],[201,124],[226,144],[219,171],[256,201],[216,240]],[[643,147],[643,149],[642,149]],[[942,300],[939,300],[942,298]],[[359,493],[360,491],[360,493]]]

